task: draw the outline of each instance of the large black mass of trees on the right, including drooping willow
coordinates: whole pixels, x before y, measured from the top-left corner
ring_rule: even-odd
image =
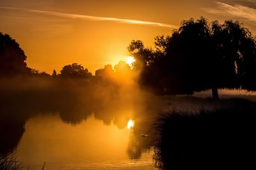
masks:
[[[239,22],[185,20],[172,36],[157,36],[155,48],[128,47],[140,66],[140,84],[158,94],[218,89],[256,90],[256,41]]]

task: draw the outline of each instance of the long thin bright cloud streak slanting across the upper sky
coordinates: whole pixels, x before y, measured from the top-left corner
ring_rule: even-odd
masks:
[[[168,28],[177,28],[176,25],[171,24],[164,24],[159,22],[148,22],[148,21],[142,21],[142,20],[129,20],[124,18],[112,18],[112,17],[95,17],[90,15],[79,15],[74,13],[61,13],[61,12],[55,12],[55,11],[41,11],[41,10],[30,10],[25,8],[13,8],[13,7],[1,7],[1,9],[6,10],[22,10],[22,11],[29,11],[33,13],[41,13],[44,15],[52,15],[56,17],[63,17],[63,18],[70,18],[70,19],[83,19],[83,20],[95,20],[95,21],[113,21],[113,22],[120,22],[125,24],[139,24],[139,25],[152,25],[157,27],[168,27]]]

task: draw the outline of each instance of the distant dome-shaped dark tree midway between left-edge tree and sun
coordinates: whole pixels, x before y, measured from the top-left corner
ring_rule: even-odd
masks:
[[[60,71],[60,76],[65,78],[90,78],[92,73],[88,69],[84,69],[81,64],[73,63],[64,66]]]

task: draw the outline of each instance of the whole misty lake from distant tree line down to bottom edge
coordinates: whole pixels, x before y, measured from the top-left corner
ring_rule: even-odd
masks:
[[[15,153],[24,169],[42,169],[44,162],[45,169],[154,169],[159,114],[223,105],[201,94],[156,96],[132,80],[116,86],[36,77],[2,82],[0,154]]]

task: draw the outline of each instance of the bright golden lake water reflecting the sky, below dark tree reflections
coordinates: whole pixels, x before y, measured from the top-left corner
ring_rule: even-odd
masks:
[[[41,115],[26,122],[15,151],[24,169],[42,169],[44,162],[45,169],[154,169],[153,149],[143,148],[147,136],[132,128],[104,124],[93,114],[76,125]]]

